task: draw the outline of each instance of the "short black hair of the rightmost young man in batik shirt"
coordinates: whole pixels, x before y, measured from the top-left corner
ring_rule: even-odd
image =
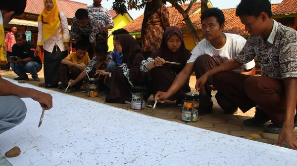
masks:
[[[235,13],[238,17],[243,15],[259,17],[261,12],[265,12],[269,18],[272,17],[269,0],[241,0]]]

